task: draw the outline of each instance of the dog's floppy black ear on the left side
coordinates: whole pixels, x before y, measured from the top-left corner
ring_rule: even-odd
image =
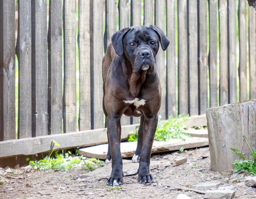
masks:
[[[129,30],[129,27],[123,28],[122,30],[115,32],[111,38],[112,45],[117,55],[123,55],[124,53],[123,38]]]

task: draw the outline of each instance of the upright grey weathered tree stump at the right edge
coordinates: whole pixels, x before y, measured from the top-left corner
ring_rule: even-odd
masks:
[[[209,132],[211,169],[226,171],[238,156],[231,151],[237,148],[250,156],[243,136],[246,136],[251,148],[256,147],[256,101],[246,101],[214,107],[206,110]]]

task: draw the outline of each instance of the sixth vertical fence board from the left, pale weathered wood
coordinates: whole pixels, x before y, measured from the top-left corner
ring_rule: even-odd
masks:
[[[79,0],[79,130],[91,128],[90,0]]]

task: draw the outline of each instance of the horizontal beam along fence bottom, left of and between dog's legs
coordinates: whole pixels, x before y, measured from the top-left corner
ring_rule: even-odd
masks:
[[[136,125],[122,127],[121,139],[127,139],[129,132],[136,131]],[[53,140],[60,146],[52,146]],[[107,143],[107,128],[70,132],[68,134],[43,135],[35,138],[23,138],[16,140],[6,140],[0,142],[0,157],[15,155],[32,155],[40,152],[82,146],[92,146],[95,144]]]

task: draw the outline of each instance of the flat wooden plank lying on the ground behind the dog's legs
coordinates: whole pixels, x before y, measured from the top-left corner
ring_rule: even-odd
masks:
[[[152,154],[166,152],[166,151],[177,151],[181,147],[196,148],[208,146],[208,138],[186,138],[185,141],[180,139],[170,139],[166,142],[154,141],[152,147]],[[122,157],[132,157],[135,153],[137,142],[122,142],[121,143],[121,154]],[[86,157],[95,157],[97,159],[105,159],[107,157],[108,144],[101,144],[98,146],[80,148],[78,153]]]

